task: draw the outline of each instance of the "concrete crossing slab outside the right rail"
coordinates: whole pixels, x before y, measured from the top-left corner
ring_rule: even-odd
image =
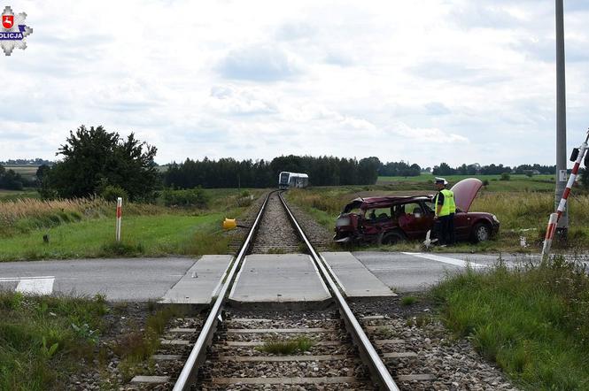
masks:
[[[347,297],[396,295],[391,291],[391,288],[378,280],[351,252],[322,252],[321,256]]]

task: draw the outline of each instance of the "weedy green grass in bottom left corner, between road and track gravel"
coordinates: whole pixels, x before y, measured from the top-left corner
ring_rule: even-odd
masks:
[[[110,312],[117,319],[126,314],[120,303],[109,308],[99,295],[0,292],[0,390],[67,389],[69,377],[78,372],[98,372],[100,389],[119,389],[107,369],[112,355],[119,359],[124,382],[136,374],[150,374],[154,366],[150,357],[159,349],[167,321],[178,313],[147,307],[150,313],[144,325],[129,319],[127,331],[106,337],[113,318],[105,317]]]

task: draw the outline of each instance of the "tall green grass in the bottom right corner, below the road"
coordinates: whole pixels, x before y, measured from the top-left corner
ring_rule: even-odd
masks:
[[[466,336],[530,390],[589,389],[589,278],[562,260],[447,278],[432,295]]]

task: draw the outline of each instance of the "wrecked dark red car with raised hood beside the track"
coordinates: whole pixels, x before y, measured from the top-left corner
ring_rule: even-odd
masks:
[[[480,180],[468,178],[451,188],[456,203],[454,230],[457,241],[484,242],[499,232],[500,222],[495,215],[469,212],[482,186]],[[337,217],[334,240],[378,244],[422,241],[434,225],[434,196],[356,198],[345,205]]]

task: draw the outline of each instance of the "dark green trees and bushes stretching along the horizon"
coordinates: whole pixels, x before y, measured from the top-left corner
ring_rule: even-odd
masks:
[[[273,188],[283,171],[307,173],[313,186],[371,185],[378,175],[416,176],[422,167],[408,162],[382,163],[378,157],[356,158],[281,156],[274,159],[236,160],[221,158],[202,160],[187,158],[168,165],[161,172],[154,162],[157,149],[103,126],[80,126],[70,132],[58,149],[62,158],[52,165],[39,166],[34,180],[27,180],[0,165],[0,188],[37,187],[43,198],[124,196],[132,201],[149,201],[162,188]],[[28,161],[25,159],[17,161]],[[429,167],[428,167],[429,168]],[[554,173],[550,165],[461,165],[441,163],[433,168],[436,175],[475,175],[501,173]],[[429,172],[428,169],[425,170]],[[582,172],[581,183],[589,188],[589,173]]]

